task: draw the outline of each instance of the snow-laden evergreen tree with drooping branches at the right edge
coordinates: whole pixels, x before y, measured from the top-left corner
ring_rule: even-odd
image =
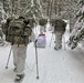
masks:
[[[69,45],[71,46],[71,49],[75,49],[83,39],[84,39],[84,0],[80,0],[77,3],[76,22],[70,37]]]

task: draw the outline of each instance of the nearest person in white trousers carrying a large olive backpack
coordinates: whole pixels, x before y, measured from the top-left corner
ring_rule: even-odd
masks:
[[[14,82],[21,82],[24,77],[27,46],[30,41],[35,41],[35,37],[29,22],[27,24],[23,17],[11,20],[6,32],[6,40],[11,42],[13,50]]]

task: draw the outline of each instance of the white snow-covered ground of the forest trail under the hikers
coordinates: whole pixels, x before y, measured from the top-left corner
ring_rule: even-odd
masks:
[[[46,31],[45,34],[46,46],[38,48],[40,79],[36,80],[35,49],[33,43],[30,43],[27,51],[25,77],[22,83],[84,83],[84,50],[76,48],[72,51],[64,44],[69,39],[66,31],[62,50],[55,51],[54,34],[51,45],[51,31]],[[13,83],[15,76],[12,53],[9,68],[6,69],[9,52],[10,45],[0,46],[0,83]]]

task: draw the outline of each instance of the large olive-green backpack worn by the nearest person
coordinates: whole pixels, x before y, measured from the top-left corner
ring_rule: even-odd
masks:
[[[22,19],[13,19],[9,23],[9,28],[6,34],[6,41],[11,42],[12,44],[28,44],[29,35],[31,34],[32,29],[30,25],[27,25]]]

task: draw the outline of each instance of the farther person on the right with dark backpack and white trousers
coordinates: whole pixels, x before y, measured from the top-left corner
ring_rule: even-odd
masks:
[[[66,22],[64,22],[62,19],[55,19],[52,21],[52,24],[54,27],[54,33],[55,33],[55,50],[59,50],[62,48],[62,35],[65,32]]]

